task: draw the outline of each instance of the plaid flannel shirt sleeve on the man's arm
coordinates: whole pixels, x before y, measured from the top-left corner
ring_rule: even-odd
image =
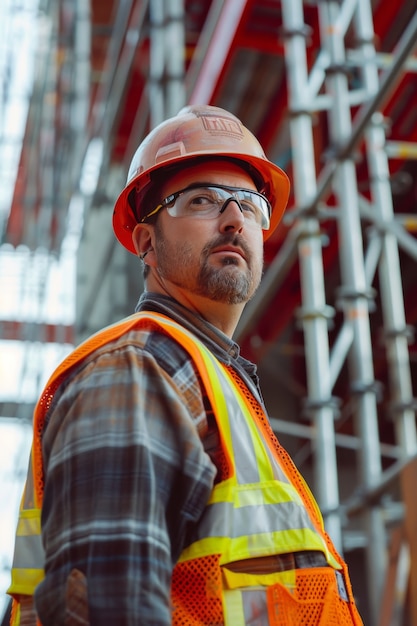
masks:
[[[171,624],[172,569],[216,474],[203,419],[192,363],[170,375],[131,343],[66,386],[43,438],[43,626],[65,623],[74,571],[85,577],[91,626]]]

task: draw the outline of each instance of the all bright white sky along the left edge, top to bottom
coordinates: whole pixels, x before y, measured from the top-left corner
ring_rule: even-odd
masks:
[[[38,0],[0,0],[0,234],[10,212],[13,186],[31,92]],[[21,340],[0,334],[2,402],[35,402],[72,346],[28,341],[31,322],[71,325],[75,315],[76,251],[83,202],[74,198],[59,258],[47,250],[0,245],[2,321],[21,322]],[[19,409],[17,409],[19,413]],[[0,412],[0,620],[8,597],[20,496],[32,436],[27,421]]]

